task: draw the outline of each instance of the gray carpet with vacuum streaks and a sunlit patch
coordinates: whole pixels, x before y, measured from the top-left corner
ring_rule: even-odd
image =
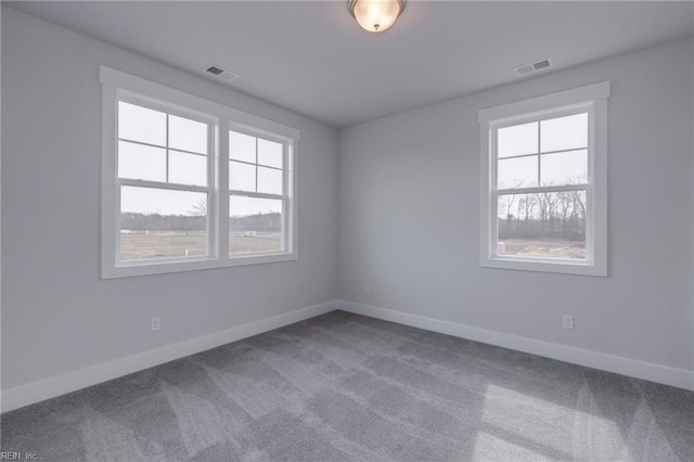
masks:
[[[694,461],[694,393],[335,311],[2,415],[51,461]]]

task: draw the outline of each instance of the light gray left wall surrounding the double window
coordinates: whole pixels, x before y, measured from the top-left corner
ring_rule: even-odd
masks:
[[[300,129],[299,260],[101,281],[100,64]],[[3,389],[334,298],[334,129],[7,8],[2,70]]]

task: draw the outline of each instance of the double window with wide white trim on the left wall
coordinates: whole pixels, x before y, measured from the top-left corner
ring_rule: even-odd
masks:
[[[102,279],[297,258],[299,132],[102,66]]]

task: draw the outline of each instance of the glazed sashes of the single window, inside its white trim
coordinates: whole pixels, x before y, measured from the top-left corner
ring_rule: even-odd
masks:
[[[491,256],[590,262],[588,142],[592,105],[491,121]]]

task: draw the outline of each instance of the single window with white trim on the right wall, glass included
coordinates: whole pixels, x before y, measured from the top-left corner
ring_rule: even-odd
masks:
[[[606,99],[596,84],[479,112],[480,264],[606,275]]]

